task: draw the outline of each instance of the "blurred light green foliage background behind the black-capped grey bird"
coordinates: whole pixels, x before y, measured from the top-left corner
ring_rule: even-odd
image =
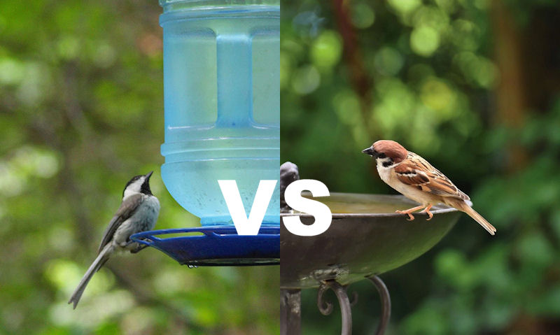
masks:
[[[278,334],[279,267],[113,257],[66,304],[132,176],[165,190],[157,0],[0,1],[0,334]]]

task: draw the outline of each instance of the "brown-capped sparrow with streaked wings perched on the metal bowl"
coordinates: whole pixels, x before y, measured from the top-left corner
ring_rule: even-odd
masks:
[[[421,208],[424,208],[422,212],[427,213],[427,220],[430,220],[433,217],[430,208],[441,203],[467,213],[491,235],[496,233],[496,228],[472,209],[468,195],[461,192],[426,159],[406,150],[399,143],[388,140],[377,141],[362,152],[375,158],[381,180],[405,197],[421,204],[406,211],[396,211],[408,215],[407,220],[414,220],[411,213]]]

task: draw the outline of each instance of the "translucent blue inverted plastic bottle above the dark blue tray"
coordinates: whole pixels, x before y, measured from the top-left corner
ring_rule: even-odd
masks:
[[[233,224],[218,180],[249,215],[260,180],[279,180],[279,0],[160,0],[162,178],[202,225]],[[262,224],[279,225],[279,183]]]

